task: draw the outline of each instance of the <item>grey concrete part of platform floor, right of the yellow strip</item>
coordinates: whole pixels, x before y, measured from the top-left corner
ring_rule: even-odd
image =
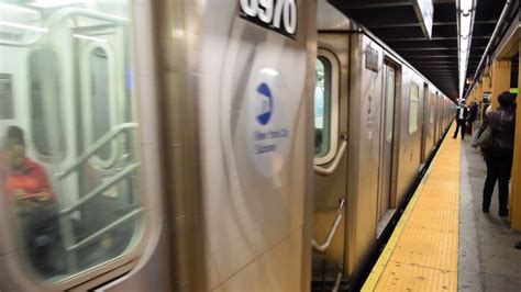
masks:
[[[481,212],[487,168],[470,137],[461,145],[458,291],[520,292],[521,234],[498,216],[497,184],[490,214]]]

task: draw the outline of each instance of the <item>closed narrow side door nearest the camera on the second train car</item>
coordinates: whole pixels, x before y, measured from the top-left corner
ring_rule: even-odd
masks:
[[[383,142],[380,143],[380,176],[378,192],[378,221],[386,222],[392,214],[390,212],[390,198],[392,195],[392,146],[395,127],[395,102],[396,102],[396,70],[389,64],[384,65],[385,78],[384,103],[383,103]],[[386,224],[378,224],[385,226]],[[378,228],[378,235],[383,228]]]

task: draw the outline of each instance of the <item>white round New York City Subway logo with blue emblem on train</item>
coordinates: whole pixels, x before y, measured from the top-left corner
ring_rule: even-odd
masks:
[[[290,132],[286,116],[277,108],[277,93],[268,82],[259,82],[252,93],[248,128],[253,139],[248,153],[260,173],[270,177],[286,160]]]

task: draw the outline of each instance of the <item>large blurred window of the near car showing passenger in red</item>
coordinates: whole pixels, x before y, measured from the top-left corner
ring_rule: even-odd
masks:
[[[68,290],[133,260],[144,232],[131,1],[16,2],[0,13],[16,24],[0,27],[5,240],[27,279]]]

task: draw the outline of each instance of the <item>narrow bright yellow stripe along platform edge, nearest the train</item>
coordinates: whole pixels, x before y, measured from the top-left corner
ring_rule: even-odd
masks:
[[[451,126],[448,127],[447,133],[451,131],[452,126],[453,124],[451,123]],[[392,252],[395,251],[396,245],[398,244],[398,240],[403,234],[403,229],[406,227],[407,222],[409,221],[412,210],[414,210],[414,205],[417,201],[419,200],[419,198],[421,196],[423,187],[429,180],[432,169],[434,168],[435,162],[437,161],[437,158],[439,158],[437,154],[440,154],[443,148],[445,148],[445,141],[443,141],[443,143],[440,145],[440,148],[437,149],[436,155],[432,159],[431,165],[429,166],[429,169],[425,171],[423,179],[421,180],[420,184],[414,191],[411,201],[409,201],[409,204],[407,205],[406,211],[401,215],[400,221],[398,222],[398,224],[395,227],[395,231],[391,234],[391,237],[387,242],[386,247],[384,248],[384,251],[381,251],[380,257],[378,258],[378,261],[375,263],[373,270],[367,277],[367,280],[365,281],[361,291],[363,292],[375,291],[376,285],[378,284],[378,281],[380,280],[381,274],[384,273],[384,270],[386,269],[387,263],[389,262],[389,259],[392,256]]]

